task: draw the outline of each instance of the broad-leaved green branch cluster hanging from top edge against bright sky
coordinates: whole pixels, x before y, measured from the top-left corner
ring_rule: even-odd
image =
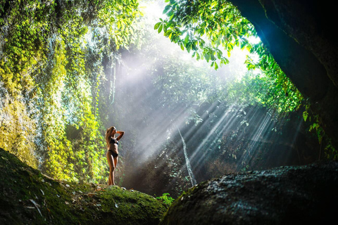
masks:
[[[249,48],[248,38],[256,36],[253,25],[227,1],[166,1],[163,13],[168,18],[156,23],[158,32],[193,51],[197,60],[206,59],[217,69],[229,61],[234,46]],[[223,46],[223,49],[219,49]]]

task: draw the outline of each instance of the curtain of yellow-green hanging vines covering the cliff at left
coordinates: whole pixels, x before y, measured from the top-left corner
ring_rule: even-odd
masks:
[[[105,181],[102,58],[134,40],[138,2],[0,1],[0,11],[0,146],[56,179]]]

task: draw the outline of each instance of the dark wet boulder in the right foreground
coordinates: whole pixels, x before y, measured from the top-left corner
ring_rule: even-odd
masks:
[[[338,162],[228,174],[175,200],[161,224],[330,224]]]

